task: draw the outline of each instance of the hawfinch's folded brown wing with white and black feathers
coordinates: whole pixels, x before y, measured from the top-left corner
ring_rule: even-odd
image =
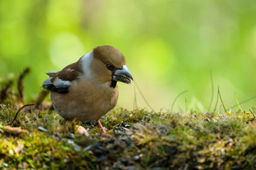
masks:
[[[82,72],[75,63],[68,65],[60,72],[47,72],[50,76],[43,82],[43,89],[55,91],[58,94],[68,93],[68,89],[72,81],[78,79]]]

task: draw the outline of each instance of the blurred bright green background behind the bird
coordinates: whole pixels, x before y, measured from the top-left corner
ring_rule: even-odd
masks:
[[[255,96],[255,0],[0,1],[0,77],[30,66],[25,92],[34,96],[48,71],[112,45],[155,110],[175,105],[207,111],[213,73],[226,108]],[[119,84],[119,106],[148,108],[134,84]],[[242,107],[255,106],[256,99]],[[213,106],[211,108],[213,110]]]

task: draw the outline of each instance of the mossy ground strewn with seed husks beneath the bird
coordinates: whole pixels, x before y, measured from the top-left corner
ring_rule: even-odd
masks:
[[[96,122],[65,123],[46,92],[24,100],[9,80],[1,83],[1,169],[256,169],[252,113],[169,113],[114,108]],[[10,84],[10,85],[8,85]],[[19,90],[18,90],[19,91]],[[25,101],[25,102],[24,102]],[[43,101],[43,102],[42,102]],[[27,132],[12,135],[11,125]],[[75,125],[89,135],[75,135]]]

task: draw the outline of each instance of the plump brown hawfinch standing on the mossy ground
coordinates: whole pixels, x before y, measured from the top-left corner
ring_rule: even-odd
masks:
[[[95,47],[78,62],[60,72],[46,72],[43,89],[50,92],[55,111],[66,120],[97,120],[117,104],[117,81],[130,84],[132,75],[122,52],[104,45]]]

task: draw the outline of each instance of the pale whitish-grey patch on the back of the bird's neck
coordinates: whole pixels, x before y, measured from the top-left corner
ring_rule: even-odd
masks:
[[[92,79],[92,72],[90,71],[90,64],[92,62],[93,53],[89,52],[82,56],[82,71],[87,79]]]

